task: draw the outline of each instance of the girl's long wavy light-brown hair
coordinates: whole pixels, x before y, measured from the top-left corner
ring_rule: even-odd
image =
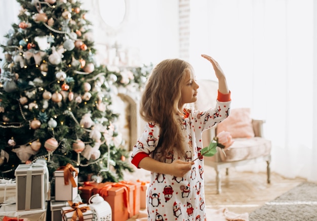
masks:
[[[161,127],[162,145],[158,160],[167,154],[184,155],[185,137],[180,113],[181,87],[185,71],[190,64],[180,59],[167,59],[157,64],[145,86],[140,102],[140,115],[146,122],[155,122]]]

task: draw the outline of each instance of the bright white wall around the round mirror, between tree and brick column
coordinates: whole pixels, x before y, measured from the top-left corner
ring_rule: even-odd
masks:
[[[98,0],[83,1],[83,7],[90,10],[87,18],[93,21],[96,43],[101,53],[106,53],[101,45],[111,47],[118,42],[138,64],[155,64],[166,58],[179,57],[178,0],[126,2],[126,19],[120,27],[113,29],[100,20]]]

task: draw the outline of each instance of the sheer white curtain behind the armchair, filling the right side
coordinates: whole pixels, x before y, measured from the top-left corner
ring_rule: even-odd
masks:
[[[272,170],[317,181],[317,3],[313,0],[191,1],[190,62],[214,78],[224,69],[232,108],[265,119]]]

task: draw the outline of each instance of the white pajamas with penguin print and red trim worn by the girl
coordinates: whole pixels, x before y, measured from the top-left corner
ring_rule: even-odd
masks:
[[[192,161],[199,157],[203,148],[202,132],[224,120],[229,115],[229,108],[230,101],[217,101],[216,107],[207,111],[184,109],[182,120],[183,129],[186,129],[187,134],[187,149],[184,156],[169,153],[164,158],[164,162],[172,163],[176,159]],[[151,156],[159,139],[160,126],[153,122],[147,123],[133,148],[132,163],[138,166],[144,156]],[[204,145],[208,146],[208,144]],[[146,197],[148,221],[206,220],[203,157],[194,161],[191,171],[182,178],[151,172],[151,182]]]

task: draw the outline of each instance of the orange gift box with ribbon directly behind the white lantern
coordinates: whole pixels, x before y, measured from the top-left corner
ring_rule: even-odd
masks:
[[[116,186],[116,183],[91,183],[94,187],[93,194],[99,194],[110,204],[112,212],[112,221],[127,220],[129,218],[128,193],[123,186]],[[114,186],[113,186],[114,185]]]

